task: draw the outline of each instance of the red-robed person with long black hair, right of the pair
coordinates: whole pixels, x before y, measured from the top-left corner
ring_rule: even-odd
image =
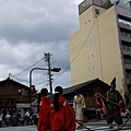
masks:
[[[55,88],[55,98],[51,102],[51,131],[75,131],[75,118],[72,108],[62,96],[62,87]]]

